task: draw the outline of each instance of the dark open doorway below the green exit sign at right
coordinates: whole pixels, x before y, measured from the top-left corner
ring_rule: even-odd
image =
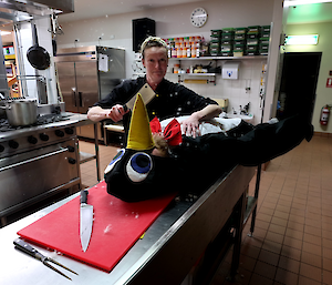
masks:
[[[287,52],[283,54],[277,118],[301,113],[312,120],[321,52]]]

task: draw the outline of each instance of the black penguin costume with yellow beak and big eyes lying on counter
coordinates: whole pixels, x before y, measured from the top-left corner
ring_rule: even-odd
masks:
[[[181,135],[179,123],[173,120],[163,134],[170,145],[169,155],[163,157],[153,154],[156,145],[152,129],[156,132],[137,94],[126,147],[118,151],[104,172],[107,193],[126,202],[170,192],[201,194],[237,164],[259,165],[313,135],[313,126],[300,115],[256,126],[241,121],[226,133],[195,139]]]

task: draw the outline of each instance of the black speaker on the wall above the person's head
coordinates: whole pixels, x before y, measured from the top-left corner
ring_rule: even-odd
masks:
[[[133,51],[139,52],[141,44],[148,35],[156,35],[156,22],[148,18],[133,20]]]

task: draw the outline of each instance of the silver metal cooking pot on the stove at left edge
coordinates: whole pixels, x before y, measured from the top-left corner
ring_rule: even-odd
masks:
[[[6,106],[7,119],[12,126],[31,125],[37,122],[37,101],[35,100],[13,100],[8,101]]]

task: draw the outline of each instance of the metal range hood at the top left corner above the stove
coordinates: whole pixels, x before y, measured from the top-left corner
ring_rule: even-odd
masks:
[[[52,13],[74,12],[73,0],[0,0],[0,24],[17,23]]]

